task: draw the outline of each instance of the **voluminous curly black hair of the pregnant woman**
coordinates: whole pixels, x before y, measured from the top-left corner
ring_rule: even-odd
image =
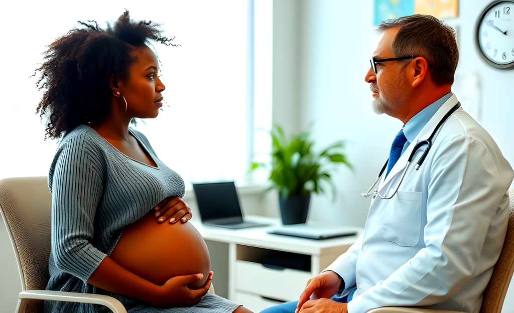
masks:
[[[85,28],[74,28],[52,42],[36,69],[41,71],[36,85],[44,94],[35,113],[47,116],[45,138],[59,139],[78,125],[104,121],[111,109],[109,82],[127,78],[128,67],[138,60],[137,47],[150,41],[176,46],[173,38],[161,35],[162,24],[135,22],[128,11],[107,29],[87,22],[79,21]]]

